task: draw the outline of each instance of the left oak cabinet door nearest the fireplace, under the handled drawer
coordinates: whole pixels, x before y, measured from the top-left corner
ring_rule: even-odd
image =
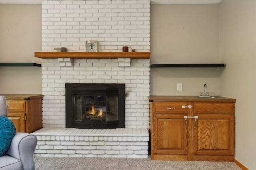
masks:
[[[187,154],[184,115],[154,114],[154,153]]]

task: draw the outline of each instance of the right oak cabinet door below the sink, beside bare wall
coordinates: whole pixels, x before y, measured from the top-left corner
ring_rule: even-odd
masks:
[[[234,117],[199,115],[193,122],[193,154],[234,154]]]

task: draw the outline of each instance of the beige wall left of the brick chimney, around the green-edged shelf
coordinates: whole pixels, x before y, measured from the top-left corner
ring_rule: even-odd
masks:
[[[0,4],[0,63],[42,63],[42,6]],[[0,67],[0,94],[42,94],[41,67]]]

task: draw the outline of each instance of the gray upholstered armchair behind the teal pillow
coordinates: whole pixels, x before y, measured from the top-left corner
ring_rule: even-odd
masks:
[[[7,103],[0,96],[0,116],[7,117]],[[0,170],[34,170],[34,151],[37,138],[29,133],[16,133],[10,149],[0,156]]]

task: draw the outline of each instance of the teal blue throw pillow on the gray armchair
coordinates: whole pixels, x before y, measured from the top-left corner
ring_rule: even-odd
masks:
[[[0,116],[0,156],[4,155],[12,143],[16,128],[7,117]]]

